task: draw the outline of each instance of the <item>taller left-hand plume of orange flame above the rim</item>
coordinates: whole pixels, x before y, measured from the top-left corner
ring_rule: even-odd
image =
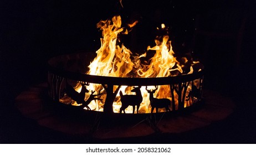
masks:
[[[96,51],[97,56],[89,65],[90,70],[87,74],[127,77],[134,63],[130,59],[131,51],[123,44],[118,45],[120,43],[118,35],[125,29],[121,28],[121,17],[115,16],[112,21],[101,20],[97,28],[103,31],[103,38],[100,39],[101,47]],[[127,31],[124,32],[126,33]]]

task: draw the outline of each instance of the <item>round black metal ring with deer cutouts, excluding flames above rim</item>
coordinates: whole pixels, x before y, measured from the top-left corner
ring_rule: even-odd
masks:
[[[203,70],[187,75],[147,78],[83,74],[88,71],[86,66],[91,58],[92,53],[77,53],[49,60],[49,96],[56,103],[106,113],[121,113],[121,110],[124,113],[152,113],[180,111],[202,102]],[[101,85],[104,89],[89,91],[91,85]],[[136,94],[123,95],[122,87]],[[163,90],[166,97],[154,97],[157,90]]]

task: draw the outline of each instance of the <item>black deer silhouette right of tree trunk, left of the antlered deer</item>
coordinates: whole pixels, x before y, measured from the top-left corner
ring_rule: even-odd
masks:
[[[120,113],[124,111],[128,106],[132,106],[132,113],[135,112],[135,106],[137,106],[137,113],[139,112],[140,104],[142,102],[142,95],[140,91],[141,86],[139,87],[134,87],[134,89],[131,90],[131,92],[135,92],[136,95],[123,95],[122,91],[120,91],[120,97],[121,97],[121,102],[122,106],[120,108]]]

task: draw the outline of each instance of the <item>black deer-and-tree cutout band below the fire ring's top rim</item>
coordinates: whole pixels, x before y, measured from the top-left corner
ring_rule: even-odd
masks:
[[[101,92],[96,92],[95,90],[89,91],[89,82],[69,80],[53,73],[49,73],[48,82],[49,96],[52,97],[53,100],[70,106],[78,106],[85,110],[91,110],[88,105],[90,105],[92,101],[98,100],[100,104],[95,105],[98,107],[93,108],[93,110],[102,107],[103,111],[106,113],[114,112],[113,103],[116,100],[120,100],[121,102],[119,113],[126,113],[125,110],[129,106],[132,106],[132,113],[135,113],[135,110],[136,113],[143,113],[140,112],[142,100],[144,100],[141,90],[145,90],[147,94],[145,96],[144,93],[144,97],[149,99],[147,111],[149,113],[157,113],[182,110],[200,101],[202,98],[203,77],[192,81],[180,82],[178,84],[170,84],[170,91],[166,92],[169,96],[163,98],[153,96],[156,90],[161,88],[161,85],[156,85],[154,89],[149,89],[148,86],[132,86],[133,89],[130,91],[135,92],[135,95],[130,95],[124,94],[124,92],[120,90],[121,85],[114,86],[111,84],[100,84],[103,87],[103,91]],[[78,87],[80,87],[80,89],[78,89]],[[119,96],[117,96],[118,93]],[[161,111],[159,111],[159,109],[161,109]]]

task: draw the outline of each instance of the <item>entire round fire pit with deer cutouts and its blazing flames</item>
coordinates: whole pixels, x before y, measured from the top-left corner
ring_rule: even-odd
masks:
[[[122,28],[120,16],[101,20],[97,26],[103,38],[96,55],[50,59],[49,96],[55,102],[104,113],[173,112],[202,102],[203,65],[190,56],[178,61],[168,35],[157,37],[156,46],[147,48],[154,51],[151,58],[147,53],[132,55],[120,45],[119,35],[135,24]]]

